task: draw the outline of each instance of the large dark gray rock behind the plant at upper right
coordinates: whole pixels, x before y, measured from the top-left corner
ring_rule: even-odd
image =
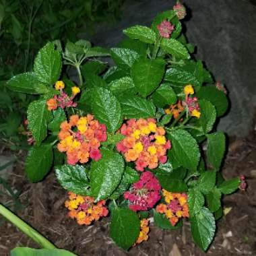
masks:
[[[230,113],[218,129],[245,136],[253,129],[256,105],[256,1],[187,0],[189,17],[183,22],[189,42],[197,46],[195,57],[205,61],[216,80],[228,88]],[[171,9],[175,1],[127,0],[115,28],[99,26],[92,42],[115,46],[122,30],[135,24],[150,25],[155,15]],[[86,37],[83,35],[82,37]]]

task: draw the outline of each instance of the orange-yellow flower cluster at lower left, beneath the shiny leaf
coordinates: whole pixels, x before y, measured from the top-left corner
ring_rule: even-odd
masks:
[[[69,200],[65,201],[65,207],[69,210],[69,217],[76,219],[79,225],[90,225],[94,220],[108,215],[105,201],[94,203],[93,197],[83,197],[69,192]]]

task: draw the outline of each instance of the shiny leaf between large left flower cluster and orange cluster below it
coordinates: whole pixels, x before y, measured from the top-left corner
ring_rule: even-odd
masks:
[[[55,167],[55,173],[64,189],[78,195],[88,195],[89,180],[83,166],[64,164]]]

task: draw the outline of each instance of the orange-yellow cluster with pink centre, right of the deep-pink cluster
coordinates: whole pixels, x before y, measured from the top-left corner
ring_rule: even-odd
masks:
[[[187,204],[187,195],[185,193],[171,193],[162,189],[164,201],[156,206],[156,211],[165,214],[172,226],[175,226],[179,218],[189,218],[189,205]]]

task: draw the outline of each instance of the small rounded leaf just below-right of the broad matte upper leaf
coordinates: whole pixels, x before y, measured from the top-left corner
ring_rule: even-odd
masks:
[[[152,99],[158,108],[177,102],[177,96],[168,84],[161,84],[152,94]]]

